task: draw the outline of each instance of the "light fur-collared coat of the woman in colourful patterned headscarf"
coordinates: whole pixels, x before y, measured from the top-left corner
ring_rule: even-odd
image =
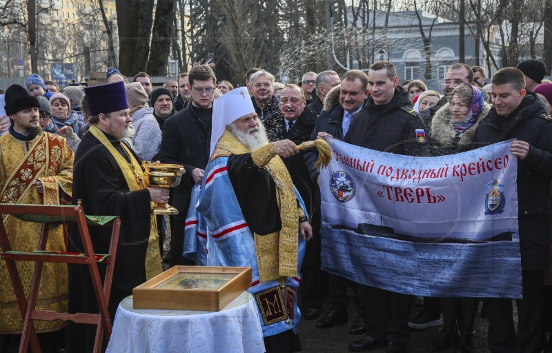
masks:
[[[444,156],[467,151],[471,148],[471,141],[475,136],[475,130],[479,122],[489,114],[493,105],[485,103],[482,112],[475,124],[462,134],[456,132],[453,127],[450,103],[446,103],[440,110],[437,110],[431,121],[431,155]]]

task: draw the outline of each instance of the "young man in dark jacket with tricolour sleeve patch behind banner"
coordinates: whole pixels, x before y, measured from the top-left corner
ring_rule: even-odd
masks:
[[[377,61],[370,66],[370,97],[353,119],[345,142],[395,154],[428,154],[424,122],[398,83],[393,63]],[[370,308],[364,316],[367,334],[351,342],[349,350],[364,352],[387,342],[388,353],[406,352],[411,296],[363,285],[361,298],[364,307]]]

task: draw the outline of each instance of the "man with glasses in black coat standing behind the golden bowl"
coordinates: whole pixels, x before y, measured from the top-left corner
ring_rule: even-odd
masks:
[[[213,92],[217,87],[215,72],[208,65],[196,66],[190,70],[188,78],[192,103],[165,121],[158,155],[161,163],[181,164],[186,169],[180,184],[172,188],[170,200],[170,204],[179,212],[171,217],[170,250],[167,256],[171,266],[190,264],[182,256],[184,223],[193,185],[203,180],[209,159]]]

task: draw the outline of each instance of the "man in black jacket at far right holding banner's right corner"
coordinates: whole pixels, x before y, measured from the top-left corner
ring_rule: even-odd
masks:
[[[540,352],[543,270],[551,224],[552,118],[544,103],[524,89],[523,72],[498,70],[491,79],[494,108],[475,132],[472,148],[516,139],[517,200],[523,299],[517,300],[517,339],[510,299],[484,299],[492,352]],[[491,271],[493,269],[489,269]]]

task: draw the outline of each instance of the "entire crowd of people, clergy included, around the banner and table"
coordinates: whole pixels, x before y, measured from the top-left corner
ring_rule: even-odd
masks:
[[[275,82],[270,72],[251,68],[243,86],[234,88],[229,81],[217,83],[210,64],[158,88],[146,72],[129,83],[109,68],[104,85],[60,92],[55,82],[31,74],[26,88],[6,90],[1,202],[79,200],[86,214],[121,218],[111,318],[132,288],[161,273],[161,261],[248,266],[253,269],[248,292],[286,308],[268,317],[257,300],[266,352],[301,350],[300,318],[317,319],[321,330],[347,323],[351,288],[356,318],[349,333],[363,336],[349,351],[385,346],[386,352],[404,353],[410,330],[440,325],[428,352],[454,347],[462,353],[471,351],[480,299],[426,297],[424,309],[410,317],[420,298],[321,270],[319,152],[297,145],[333,137],[372,150],[432,157],[515,139],[523,288],[523,298],[515,301],[517,327],[511,299],[483,299],[482,310],[491,352],[551,353],[552,83],[545,75],[546,66],[535,59],[502,68],[489,79],[479,66],[455,63],[437,92],[420,79],[400,84],[395,65],[378,61],[367,74],[306,72],[298,84]],[[183,165],[181,183],[170,193],[149,186],[141,161]],[[170,202],[178,210],[168,217],[171,236],[164,256],[168,225],[164,216],[150,214],[152,202]],[[14,250],[36,248],[30,223],[4,215],[3,224]],[[82,251],[78,230],[71,230],[70,249],[64,248],[61,228],[50,234],[49,250]],[[107,252],[110,234],[99,228],[90,234],[95,251]],[[190,236],[203,239],[196,251],[186,249]],[[39,307],[97,312],[86,269],[50,266]],[[28,286],[32,266],[19,271]],[[0,351],[17,352],[23,322],[3,261],[0,278],[5,284]],[[36,325],[43,352],[92,350],[93,327],[64,327]]]

